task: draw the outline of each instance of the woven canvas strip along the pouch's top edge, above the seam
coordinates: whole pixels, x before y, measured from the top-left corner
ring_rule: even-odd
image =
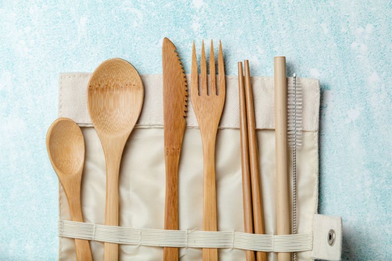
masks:
[[[87,109],[87,85],[91,73],[61,73],[59,76],[60,117],[73,119],[81,126],[92,126]],[[187,75],[190,88],[190,75]],[[209,75],[208,75],[209,77]],[[141,75],[144,85],[143,108],[136,127],[163,126],[162,75]],[[288,85],[292,84],[292,78]],[[257,129],[274,129],[273,77],[252,77],[255,119]],[[209,82],[209,81],[208,81]],[[303,89],[303,130],[318,130],[319,82],[316,79],[298,78]],[[190,94],[189,94],[190,95]],[[198,127],[197,119],[188,97],[187,127]],[[226,100],[220,119],[220,128],[239,128],[238,77],[226,76]]]

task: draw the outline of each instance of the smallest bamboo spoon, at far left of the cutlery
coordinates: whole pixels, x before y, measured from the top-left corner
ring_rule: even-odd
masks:
[[[67,195],[72,220],[83,222],[80,190],[85,162],[85,141],[81,129],[71,119],[55,120],[46,134],[46,149]],[[92,261],[88,240],[76,238],[75,248],[77,260]]]

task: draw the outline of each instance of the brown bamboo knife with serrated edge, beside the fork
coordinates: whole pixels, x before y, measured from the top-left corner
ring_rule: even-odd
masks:
[[[185,131],[186,78],[174,44],[162,45],[163,113],[166,166],[165,229],[178,230],[178,163]],[[178,260],[178,248],[164,248],[165,261]]]

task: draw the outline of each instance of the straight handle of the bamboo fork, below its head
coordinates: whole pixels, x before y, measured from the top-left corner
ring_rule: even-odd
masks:
[[[217,231],[217,197],[215,185],[215,140],[216,134],[203,140],[204,196],[203,230]],[[203,137],[206,137],[204,135]],[[203,248],[203,261],[218,261],[218,249]]]

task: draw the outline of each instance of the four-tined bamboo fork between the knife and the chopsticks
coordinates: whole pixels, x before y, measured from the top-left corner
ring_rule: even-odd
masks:
[[[214,55],[213,51],[211,52]],[[211,65],[210,65],[211,66]],[[192,50],[191,69],[191,99],[192,106],[200,126],[203,143],[204,162],[204,194],[203,194],[203,230],[217,231],[217,201],[215,185],[215,142],[218,131],[218,124],[222,114],[226,87],[224,78],[223,52],[219,41],[218,53],[218,89],[216,92],[207,93],[207,65],[204,52],[204,42],[202,43],[201,56],[201,92],[198,90],[198,72],[195,43]],[[212,87],[211,90],[214,90]],[[218,250],[212,248],[203,249],[203,261],[218,260]]]

